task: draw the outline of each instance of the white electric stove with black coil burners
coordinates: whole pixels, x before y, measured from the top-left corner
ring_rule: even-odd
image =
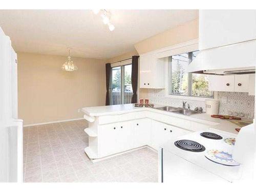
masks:
[[[236,136],[209,129],[168,141],[160,148],[162,182],[238,180],[242,165],[232,159]]]

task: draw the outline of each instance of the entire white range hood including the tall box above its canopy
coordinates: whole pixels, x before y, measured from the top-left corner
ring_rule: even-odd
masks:
[[[199,51],[190,73],[255,73],[256,10],[200,10]]]

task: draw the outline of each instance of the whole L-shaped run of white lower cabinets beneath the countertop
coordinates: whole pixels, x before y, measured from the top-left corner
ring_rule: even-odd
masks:
[[[156,150],[167,140],[190,133],[148,118],[98,125],[98,158],[143,145]]]

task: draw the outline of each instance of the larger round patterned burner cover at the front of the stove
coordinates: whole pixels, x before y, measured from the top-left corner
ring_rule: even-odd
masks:
[[[222,165],[228,165],[228,166],[240,165],[238,162],[232,159],[232,154],[229,154],[228,152],[223,152],[219,150],[208,150],[205,153],[205,157],[215,163],[219,163]]]

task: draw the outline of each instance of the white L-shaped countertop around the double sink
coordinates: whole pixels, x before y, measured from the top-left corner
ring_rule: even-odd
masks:
[[[154,113],[160,113],[164,115],[169,115],[181,119],[187,119],[191,121],[201,122],[205,124],[210,124],[212,128],[238,134],[235,130],[239,128],[238,125],[231,123],[228,120],[223,120],[219,118],[212,118],[210,115],[206,113],[196,114],[196,115],[182,115],[171,113],[167,111],[157,110],[156,108],[161,107],[163,105],[155,104],[154,108],[137,108],[134,104],[118,104],[118,105],[109,105],[109,106],[90,106],[86,108],[82,108],[81,111],[89,116],[105,116],[105,115],[117,115],[117,114],[125,114],[129,112],[139,112],[139,111],[151,111]]]

